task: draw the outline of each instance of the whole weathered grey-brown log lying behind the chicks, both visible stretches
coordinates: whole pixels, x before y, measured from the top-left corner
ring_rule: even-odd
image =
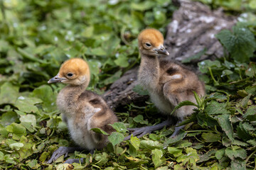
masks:
[[[214,60],[223,56],[223,47],[215,38],[220,30],[230,29],[236,21],[234,16],[227,16],[221,9],[211,11],[206,5],[196,1],[180,0],[180,7],[174,12],[167,28],[165,47],[169,51],[169,59],[182,61],[206,49],[199,60]],[[177,1],[176,1],[177,3]],[[113,109],[127,103],[142,103],[148,96],[140,96],[132,89],[137,84],[138,67],[126,72],[110,86],[104,98]]]

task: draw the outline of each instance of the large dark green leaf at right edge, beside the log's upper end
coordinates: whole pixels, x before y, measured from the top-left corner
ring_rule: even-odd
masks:
[[[248,28],[233,26],[230,30],[222,30],[216,37],[238,62],[249,62],[256,48],[256,40]]]

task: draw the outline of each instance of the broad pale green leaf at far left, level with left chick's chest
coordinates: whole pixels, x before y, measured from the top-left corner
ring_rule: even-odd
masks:
[[[15,106],[18,108],[18,110],[26,112],[26,113],[37,113],[38,108],[34,106],[35,104],[41,103],[40,98],[29,98],[29,97],[23,97],[19,96],[18,100],[15,103]]]

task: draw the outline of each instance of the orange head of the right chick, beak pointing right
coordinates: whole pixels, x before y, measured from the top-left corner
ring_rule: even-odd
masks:
[[[164,47],[164,37],[154,28],[142,30],[139,33],[139,51],[142,55],[169,55]]]

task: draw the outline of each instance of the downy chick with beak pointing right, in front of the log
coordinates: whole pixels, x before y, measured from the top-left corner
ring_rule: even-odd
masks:
[[[168,116],[163,123],[143,128],[130,128],[134,136],[142,137],[154,130],[160,130],[164,126],[172,124],[170,113],[181,101],[192,101],[196,103],[193,91],[199,96],[205,95],[205,87],[196,74],[182,64],[164,60],[169,52],[164,48],[164,37],[152,28],[142,30],[138,37],[139,52],[142,56],[139,67],[139,84],[149,91],[151,101],[159,108],[159,111]],[[159,58],[161,57],[161,60]],[[183,118],[193,113],[194,106],[183,106],[173,114],[178,118],[174,137],[183,126],[178,127]],[[130,135],[125,140],[129,139]]]

